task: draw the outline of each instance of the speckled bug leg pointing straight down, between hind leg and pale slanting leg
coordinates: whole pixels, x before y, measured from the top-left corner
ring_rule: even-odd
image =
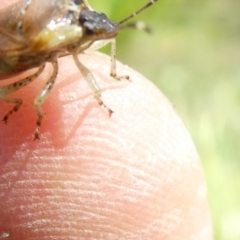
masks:
[[[53,66],[53,72],[52,72],[52,75],[50,76],[49,80],[47,81],[47,83],[45,84],[45,87],[42,89],[42,91],[38,94],[38,96],[35,98],[34,100],[34,108],[37,112],[37,115],[38,115],[38,119],[37,119],[37,122],[36,122],[36,129],[35,129],[35,133],[34,133],[34,140],[35,139],[40,139],[39,138],[39,135],[40,135],[40,126],[41,126],[41,123],[42,123],[42,119],[43,119],[43,116],[44,116],[44,113],[42,111],[42,104],[43,102],[45,101],[45,99],[47,98],[47,96],[49,95],[54,83],[55,83],[55,80],[56,80],[56,77],[57,77],[57,74],[58,74],[58,62],[57,61],[52,61],[52,66]]]

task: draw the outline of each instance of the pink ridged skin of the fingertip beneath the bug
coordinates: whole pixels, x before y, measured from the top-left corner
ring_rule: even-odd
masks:
[[[212,239],[199,159],[171,104],[124,65],[118,72],[131,82],[109,77],[109,57],[80,59],[114,113],[95,103],[71,58],[61,59],[41,140],[32,141],[33,98],[51,68],[18,91],[24,105],[1,125],[0,232],[25,240]]]

